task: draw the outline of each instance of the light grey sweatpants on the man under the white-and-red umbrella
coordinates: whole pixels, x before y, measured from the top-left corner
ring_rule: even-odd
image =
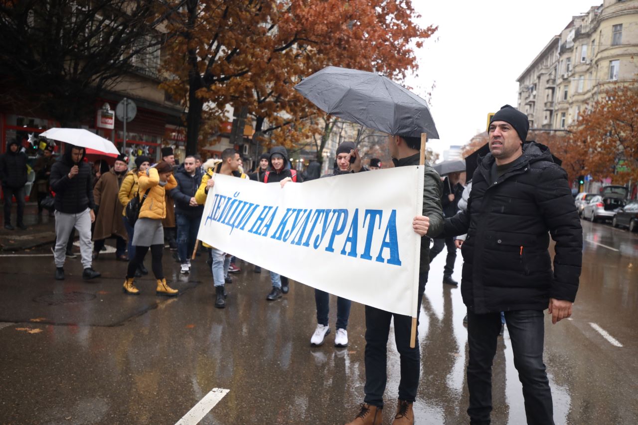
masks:
[[[56,267],[64,267],[66,258],[66,242],[73,227],[80,235],[80,255],[82,255],[82,266],[87,269],[91,267],[91,254],[93,254],[93,242],[91,242],[91,213],[88,208],[77,214],[66,214],[56,210],[56,250],[54,259]]]

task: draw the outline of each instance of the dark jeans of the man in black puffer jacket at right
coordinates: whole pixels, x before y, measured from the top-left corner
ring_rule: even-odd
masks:
[[[545,324],[542,310],[505,311],[514,366],[523,384],[528,425],[553,425],[552,394],[543,363]],[[468,389],[470,424],[489,424],[492,411],[492,361],[501,329],[500,313],[468,311]]]

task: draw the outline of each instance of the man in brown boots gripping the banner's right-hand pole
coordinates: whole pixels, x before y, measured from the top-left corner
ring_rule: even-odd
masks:
[[[388,147],[395,167],[419,165],[420,138],[390,136],[388,138]],[[429,271],[430,238],[437,236],[443,228],[443,211],[440,200],[441,186],[441,179],[438,173],[434,168],[426,165],[424,170],[423,213],[421,216],[415,217],[412,225],[414,232],[421,237],[417,322]],[[408,295],[406,294],[406,296]],[[411,425],[414,423],[412,405],[419,387],[420,351],[418,341],[414,348],[410,348],[412,318],[366,305],[366,385],[364,387],[366,395],[359,414],[348,425],[380,425],[382,423],[383,392],[387,382],[386,350],[390,332],[390,320],[392,318],[394,318],[394,336],[397,350],[399,355],[401,355],[399,399],[392,424]]]

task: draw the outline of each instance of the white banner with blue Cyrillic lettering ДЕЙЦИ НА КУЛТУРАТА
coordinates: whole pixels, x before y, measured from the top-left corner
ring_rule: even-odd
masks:
[[[306,183],[215,175],[198,239],[330,294],[417,316],[423,167]]]

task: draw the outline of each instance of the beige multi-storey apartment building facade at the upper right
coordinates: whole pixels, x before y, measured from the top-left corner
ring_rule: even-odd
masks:
[[[613,84],[638,80],[638,0],[604,0],[554,36],[517,78],[530,128],[567,130]]]

